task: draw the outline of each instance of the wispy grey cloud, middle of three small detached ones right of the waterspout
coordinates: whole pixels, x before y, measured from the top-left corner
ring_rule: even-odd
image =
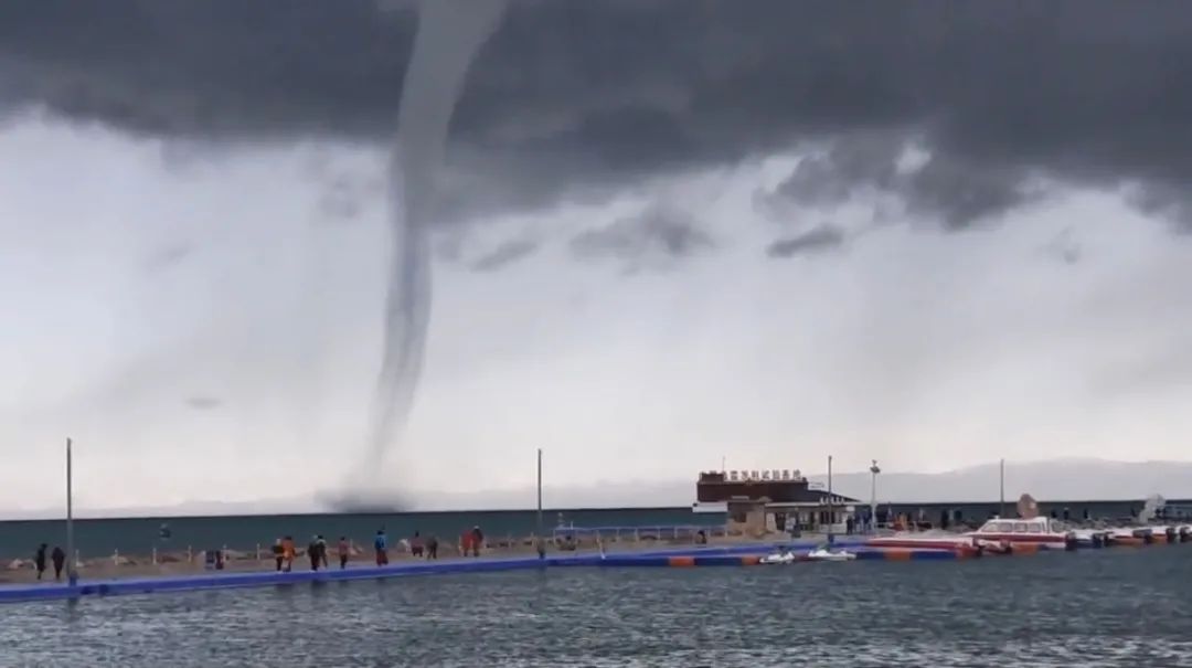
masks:
[[[571,252],[581,259],[620,259],[635,264],[651,258],[687,258],[715,242],[690,215],[666,206],[651,206],[638,216],[581,233]]]

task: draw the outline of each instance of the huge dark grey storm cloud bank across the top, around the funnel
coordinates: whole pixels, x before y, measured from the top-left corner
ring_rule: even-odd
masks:
[[[389,142],[414,29],[367,0],[11,0],[0,88],[138,134]],[[523,0],[453,120],[474,165],[508,168],[476,168],[483,188],[443,215],[864,136],[877,162],[830,153],[820,187],[787,190],[886,184],[966,227],[1042,174],[1141,184],[1140,205],[1187,223],[1188,118],[1184,0]],[[932,155],[913,178],[888,150],[905,138]]]

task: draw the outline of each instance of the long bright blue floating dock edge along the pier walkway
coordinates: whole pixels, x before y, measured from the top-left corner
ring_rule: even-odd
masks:
[[[845,542],[838,544],[844,545]],[[187,592],[197,589],[229,589],[240,587],[265,587],[294,584],[299,582],[337,582],[350,580],[378,580],[415,575],[447,575],[462,573],[501,573],[561,567],[632,567],[670,565],[670,557],[694,557],[695,565],[740,565],[743,556],[757,556],[776,549],[809,550],[812,543],[782,543],[756,545],[727,545],[714,548],[677,548],[648,552],[610,555],[558,555],[540,559],[534,557],[458,559],[445,562],[415,562],[386,567],[356,567],[344,570],[299,570],[292,573],[204,573],[180,576],[129,577],[119,580],[82,581],[76,586],[58,583],[30,583],[0,586],[0,604],[74,599],[82,596],[114,596],[147,594],[153,592]],[[858,552],[858,558],[864,552]],[[864,557],[870,558],[870,557]]]

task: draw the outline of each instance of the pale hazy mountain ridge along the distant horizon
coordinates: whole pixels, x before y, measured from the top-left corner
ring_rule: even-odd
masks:
[[[880,464],[880,463],[879,463]],[[544,505],[550,509],[679,507],[695,500],[696,472],[683,481],[616,481],[588,485],[544,485]],[[808,476],[826,484],[827,476]],[[832,476],[833,490],[869,501],[870,474],[848,472]],[[1142,500],[1153,494],[1167,499],[1192,499],[1192,462],[1111,462],[1104,459],[1051,459],[1006,463],[1006,499],[1029,493],[1039,501]],[[421,491],[411,495],[415,512],[466,509],[533,508],[536,490],[483,490],[474,493]],[[328,512],[319,494],[305,497],[261,499],[257,501],[188,501],[174,506],[132,508],[86,508],[79,518],[184,517],[297,514]],[[882,472],[877,476],[880,502],[939,503],[998,500],[998,463],[981,464],[940,474]],[[395,508],[396,509],[396,508]],[[7,519],[60,518],[61,509],[5,512]]]

